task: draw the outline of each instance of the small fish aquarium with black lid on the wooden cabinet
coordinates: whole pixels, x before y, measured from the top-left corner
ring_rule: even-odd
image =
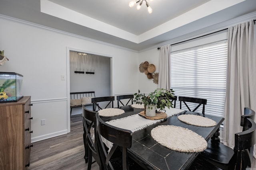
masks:
[[[0,103],[17,102],[22,96],[23,76],[15,72],[0,72]]]

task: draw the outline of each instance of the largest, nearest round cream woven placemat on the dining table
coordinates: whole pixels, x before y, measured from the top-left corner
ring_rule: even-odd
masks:
[[[207,148],[202,136],[184,127],[160,125],[152,129],[151,136],[160,145],[179,152],[202,152]]]

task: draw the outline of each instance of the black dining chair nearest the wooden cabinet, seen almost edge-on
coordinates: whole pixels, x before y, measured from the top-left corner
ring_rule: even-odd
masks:
[[[99,143],[98,143],[98,131],[96,127],[96,112],[91,111],[82,106],[82,115],[83,115],[83,127],[84,127],[84,149],[85,149],[85,158],[86,163],[88,162],[88,170],[91,169],[92,163],[97,162],[100,166],[100,170],[104,169],[100,158],[99,152]],[[91,134],[93,132],[94,134]],[[94,136],[94,139],[92,139]],[[94,162],[92,162],[92,157],[94,158]]]

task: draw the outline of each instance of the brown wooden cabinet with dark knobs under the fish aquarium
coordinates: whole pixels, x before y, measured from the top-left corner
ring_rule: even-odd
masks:
[[[25,170],[31,147],[30,96],[0,104],[0,170]]]

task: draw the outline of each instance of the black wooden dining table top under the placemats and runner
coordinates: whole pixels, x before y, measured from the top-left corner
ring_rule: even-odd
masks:
[[[122,106],[120,109],[123,109],[125,113],[122,115],[114,117],[101,117],[104,121],[110,121],[114,119],[119,119],[122,117],[127,117],[129,115],[138,114],[143,109],[136,109],[131,106]],[[180,120],[178,120],[178,115],[180,114],[195,114],[202,115],[201,113],[195,113],[191,111],[183,111],[164,121],[158,122],[154,125],[150,125],[144,129],[132,133],[132,147],[128,149],[128,156],[140,164],[144,169],[152,170],[186,170],[192,164],[199,152],[178,152],[166,147],[163,147],[151,137],[151,130],[158,125],[175,125],[190,129],[198,135],[201,135],[206,141],[208,141],[214,133],[215,139],[218,138],[218,130],[220,124],[224,121],[224,118],[207,115],[214,121],[217,125],[214,127],[198,127],[194,125],[188,125]]]

